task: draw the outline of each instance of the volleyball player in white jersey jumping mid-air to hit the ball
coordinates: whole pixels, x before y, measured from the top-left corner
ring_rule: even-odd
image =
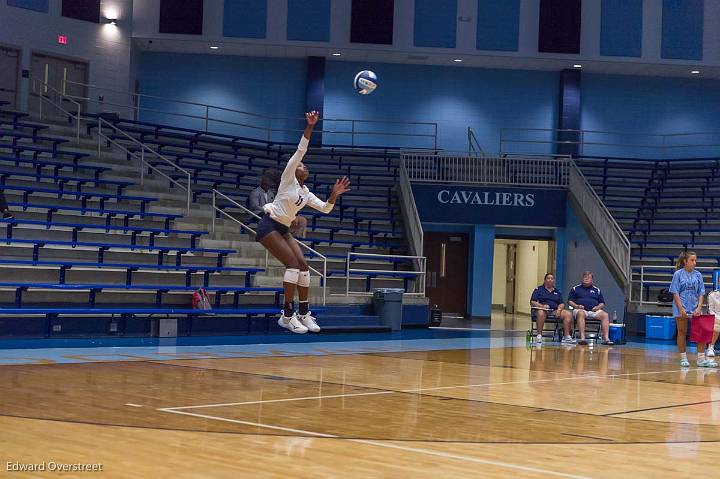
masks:
[[[312,136],[318,121],[318,116],[316,111],[305,114],[307,125],[298,149],[282,173],[275,199],[263,207],[265,216],[262,217],[257,227],[257,241],[285,266],[283,277],[285,304],[278,324],[293,333],[307,333],[308,331],[317,333],[320,331],[320,327],[309,310],[310,269],[300,246],[290,234],[290,225],[297,217],[298,211],[305,205],[326,214],[330,213],[338,196],[350,189],[350,180],[347,177],[335,181],[332,193],[325,202],[312,194],[305,186],[305,180],[310,176],[310,172],[302,163],[302,159],[307,152],[310,136]],[[300,303],[297,314],[293,304],[296,289]]]

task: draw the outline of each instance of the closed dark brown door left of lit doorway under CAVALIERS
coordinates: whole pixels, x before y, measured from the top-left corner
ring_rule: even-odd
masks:
[[[443,312],[465,315],[467,311],[468,235],[425,233],[427,257],[426,293],[430,304]]]

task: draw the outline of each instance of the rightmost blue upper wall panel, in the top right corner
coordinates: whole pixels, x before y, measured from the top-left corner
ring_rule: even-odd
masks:
[[[663,0],[662,58],[702,60],[704,0]]]

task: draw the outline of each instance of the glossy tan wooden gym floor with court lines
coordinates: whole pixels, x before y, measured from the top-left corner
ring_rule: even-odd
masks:
[[[0,366],[0,476],[678,478],[720,452],[720,372],[642,344],[201,356]],[[102,471],[8,470],[49,461]]]

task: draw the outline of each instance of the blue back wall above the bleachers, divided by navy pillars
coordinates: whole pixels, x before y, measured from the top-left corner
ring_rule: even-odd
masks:
[[[273,128],[276,141],[295,142],[302,129],[305,109],[307,62],[305,60],[143,53],[138,63],[142,93],[210,103],[252,113],[297,120],[267,120],[213,112],[212,117]],[[379,76],[372,95],[358,95],[352,78],[363,68]],[[584,73],[581,82],[581,127],[584,130],[622,132],[586,133],[585,146],[592,155],[658,158],[662,138],[677,132],[717,131],[720,124],[720,80],[660,78]],[[172,104],[145,107],[204,115],[199,107]],[[437,122],[438,147],[467,150],[466,128],[471,126],[487,152],[497,152],[501,128],[554,128],[559,106],[559,73],[489,70],[424,65],[368,64],[328,61],[325,78],[325,144],[349,144],[352,125],[329,119],[382,120],[388,122]],[[143,112],[149,121],[172,121],[178,126],[204,128],[204,121]],[[267,138],[264,130],[211,123],[220,132]],[[432,147],[432,125],[394,123],[355,124],[357,144]],[[390,136],[387,133],[405,136]],[[426,135],[426,136],[410,136]],[[506,139],[516,135],[505,133]],[[525,137],[527,139],[527,137]],[[546,132],[533,140],[549,141]],[[718,144],[720,135],[696,135],[666,140],[680,144]],[[612,146],[621,145],[621,146]],[[655,147],[648,147],[655,145]],[[507,146],[507,145],[506,145]],[[642,147],[641,147],[642,146]],[[513,151],[551,152],[551,145],[513,144]],[[713,148],[666,150],[670,157],[718,156]]]

